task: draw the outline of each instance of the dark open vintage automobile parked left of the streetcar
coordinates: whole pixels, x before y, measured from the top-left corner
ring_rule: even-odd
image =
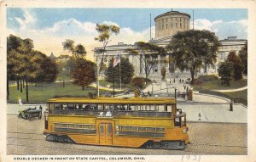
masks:
[[[31,120],[33,117],[38,117],[39,120],[42,118],[42,107],[40,106],[39,109],[35,108],[28,108],[28,109],[20,109],[19,110],[19,118],[23,118],[26,120]]]

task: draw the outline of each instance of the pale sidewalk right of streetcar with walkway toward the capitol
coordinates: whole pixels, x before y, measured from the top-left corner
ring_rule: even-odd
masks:
[[[177,80],[178,81],[178,80]],[[177,93],[183,92],[183,86],[188,84],[167,83],[166,81],[158,81],[156,84],[149,85],[143,92],[171,93],[174,95],[174,88],[177,87]],[[160,90],[160,89],[164,90]],[[166,89],[165,89],[166,88]],[[182,97],[177,97],[177,109],[183,109],[187,114],[188,121],[196,122],[224,122],[224,123],[247,123],[247,109],[241,104],[234,104],[233,111],[230,111],[230,101],[226,98],[217,96],[194,93],[192,101]]]

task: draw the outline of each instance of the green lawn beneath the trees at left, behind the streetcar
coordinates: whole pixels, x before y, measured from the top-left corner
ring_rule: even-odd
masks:
[[[26,89],[23,92],[17,91],[16,86],[9,87],[9,100],[8,103],[17,103],[18,98],[22,99],[22,103],[26,102]],[[71,82],[67,82],[65,87],[62,87],[62,83],[42,83],[37,86],[31,84],[28,86],[29,103],[45,103],[49,98],[54,96],[88,96],[88,93],[96,93],[96,89],[93,87],[84,88],[73,85]],[[104,94],[106,91],[100,91]]]

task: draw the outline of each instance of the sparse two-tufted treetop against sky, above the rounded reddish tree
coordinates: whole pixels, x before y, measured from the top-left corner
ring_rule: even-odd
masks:
[[[66,39],[65,42],[62,42],[62,46],[64,50],[72,53],[75,59],[84,58],[86,55],[85,47],[82,44],[75,46],[74,41],[71,39]]]

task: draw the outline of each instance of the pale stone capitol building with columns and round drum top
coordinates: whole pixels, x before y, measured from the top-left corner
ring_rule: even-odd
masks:
[[[188,31],[190,29],[190,15],[185,13],[180,13],[177,11],[166,12],[165,14],[160,14],[154,18],[155,22],[155,36],[148,42],[151,42],[160,47],[166,47],[169,42],[172,40],[172,36],[174,36],[178,31]],[[138,40],[139,41],[139,40]],[[247,40],[245,39],[237,39],[236,36],[229,36],[224,40],[219,40],[220,47],[218,48],[218,59],[215,67],[209,67],[207,70],[207,74],[217,74],[218,64],[219,62],[223,62],[230,51],[235,51],[236,54],[239,53],[241,47],[243,47]],[[108,64],[108,61],[120,54],[121,57],[129,59],[131,64],[134,66],[135,75],[145,77],[143,65],[140,62],[140,59],[137,55],[131,54],[127,52],[127,49],[135,48],[132,44],[125,44],[124,42],[119,42],[115,45],[110,45],[106,47],[106,52],[104,55],[103,62],[104,64]],[[102,47],[96,47],[94,49],[94,59],[97,63],[99,63],[102,58],[101,51]],[[153,69],[150,71],[148,78],[155,79],[160,78],[160,70],[165,67],[166,68],[166,77],[171,77],[176,75],[177,73],[182,73],[179,70],[173,71],[173,63],[166,62],[164,60],[168,60],[169,56],[166,57],[158,57],[158,63],[154,64]],[[183,73],[189,73],[184,71]],[[205,73],[205,71],[201,70],[198,73]]]

